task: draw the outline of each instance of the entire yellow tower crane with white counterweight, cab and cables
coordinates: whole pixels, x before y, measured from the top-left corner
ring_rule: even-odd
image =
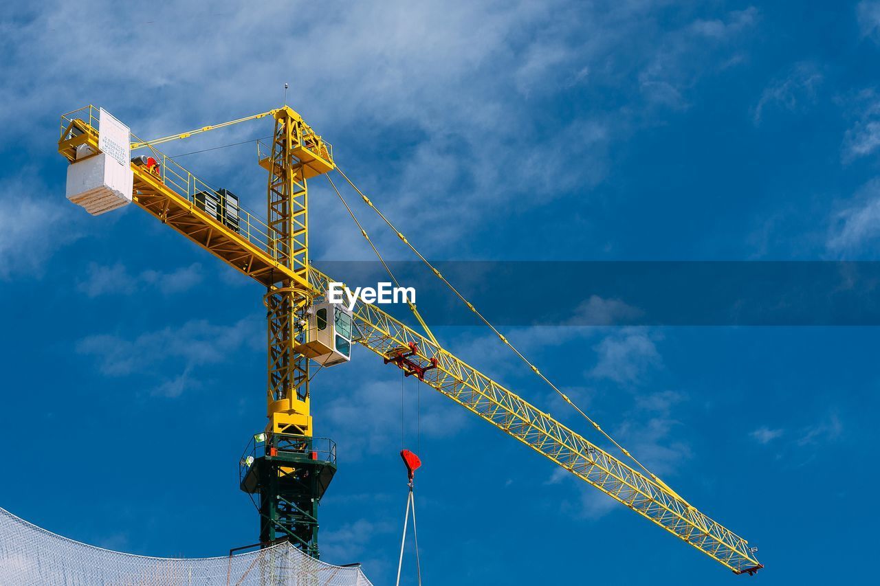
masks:
[[[234,194],[209,187],[156,148],[161,143],[267,116],[275,121],[275,129],[271,145],[261,150],[259,157],[260,165],[268,170],[266,221],[240,208]],[[120,128],[126,136],[124,145],[118,144],[122,139],[114,144],[106,138],[112,133],[119,136]],[[128,128],[120,122],[99,108],[85,106],[62,115],[58,150],[70,162],[71,201],[96,215],[118,207],[121,204],[113,201],[126,202],[124,186],[121,190],[108,189],[106,177],[120,169],[128,173],[130,167],[131,201],[267,288],[264,302],[268,310],[268,425],[264,432],[254,436],[239,465],[241,488],[260,499],[261,542],[286,537],[304,552],[316,557],[319,554],[318,502],[336,470],[335,446],[329,440],[312,436],[309,366],[311,362],[325,366],[348,362],[351,343],[356,343],[736,574],[751,575],[763,568],[755,557],[757,548],[695,509],[649,472],[483,318],[376,204],[337,169],[331,146],[289,106],[148,142],[133,135],[129,138]],[[128,163],[129,150],[146,150],[150,154]],[[114,167],[108,157],[114,157],[121,167]],[[90,165],[110,165],[103,168],[104,184],[94,189],[74,188],[75,193],[71,194],[71,176],[83,176],[81,169],[87,175],[90,171],[86,167]],[[326,292],[334,280],[312,267],[309,260],[307,181],[319,175],[329,179],[334,170],[503,344],[559,392],[633,465],[442,348],[414,304],[410,304],[410,309],[424,334],[376,304],[357,301],[353,310],[348,311],[340,304],[329,303]],[[332,179],[330,184],[342,199]],[[348,203],[345,205],[363,237],[370,241]],[[376,251],[371,241],[370,245]]]

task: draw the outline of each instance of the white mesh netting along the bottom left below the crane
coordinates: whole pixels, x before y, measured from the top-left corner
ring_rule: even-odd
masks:
[[[9,586],[371,586],[288,543],[222,558],[150,558],[89,546],[0,509],[0,584]]]

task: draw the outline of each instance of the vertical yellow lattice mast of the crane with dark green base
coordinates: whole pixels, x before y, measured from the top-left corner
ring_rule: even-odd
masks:
[[[268,157],[267,219],[276,258],[293,275],[270,271],[266,304],[268,387],[262,451],[242,472],[242,488],[260,495],[260,542],[289,538],[319,557],[318,505],[335,472],[335,446],[317,450],[312,437],[310,359],[297,348],[308,342],[309,208],[307,179],[334,168],[329,147],[290,106],[275,110]],[[319,453],[321,457],[319,458]]]

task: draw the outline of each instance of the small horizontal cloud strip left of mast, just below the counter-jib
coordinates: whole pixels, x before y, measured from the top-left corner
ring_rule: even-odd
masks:
[[[202,265],[197,262],[168,273],[148,269],[138,275],[130,275],[119,262],[110,267],[92,262],[86,269],[86,277],[77,283],[77,289],[89,297],[128,295],[147,288],[170,295],[192,289],[203,278]]]

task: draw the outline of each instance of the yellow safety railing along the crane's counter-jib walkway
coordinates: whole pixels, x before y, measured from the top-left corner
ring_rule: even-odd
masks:
[[[89,105],[62,114],[61,118],[61,140],[66,140],[70,136],[65,136],[68,132],[70,123],[79,121],[86,125],[87,130],[91,130],[96,135],[99,133],[100,109]],[[130,134],[130,133],[129,133]],[[134,134],[130,134],[131,142],[141,143]],[[238,211],[238,222],[231,222],[231,214],[227,209],[227,199],[218,189],[209,186],[208,183],[194,176],[193,173],[187,171],[183,166],[179,165],[174,159],[165,155],[155,147],[147,144],[145,149],[150,150],[150,157],[156,159],[158,165],[157,179],[161,180],[165,187],[169,187],[175,194],[185,198],[195,207],[205,211],[204,199],[207,197],[216,201],[219,205],[217,210],[219,213],[215,219],[224,223],[227,229],[235,231],[241,238],[246,239],[249,243],[257,246],[261,250],[268,253],[273,260],[282,263],[287,267],[296,269],[303,267],[294,267],[291,264],[301,264],[301,261],[293,258],[290,254],[290,245],[288,245],[281,235],[275,229],[268,226],[258,216],[254,216],[252,212],[241,206],[236,206]],[[200,201],[202,200],[202,201]]]

